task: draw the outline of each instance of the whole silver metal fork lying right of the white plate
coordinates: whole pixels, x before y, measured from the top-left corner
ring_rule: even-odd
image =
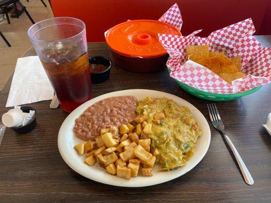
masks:
[[[239,153],[237,152],[236,148],[234,147],[233,143],[231,142],[230,138],[227,136],[224,130],[224,124],[220,118],[216,104],[207,104],[207,107],[208,107],[209,116],[210,116],[213,126],[223,133],[224,138],[226,139],[231,150],[233,151],[234,157],[240,167],[240,170],[243,174],[243,177],[246,183],[249,185],[253,185],[254,180],[252,176],[250,175],[247,166],[245,165],[244,161],[240,157]]]

